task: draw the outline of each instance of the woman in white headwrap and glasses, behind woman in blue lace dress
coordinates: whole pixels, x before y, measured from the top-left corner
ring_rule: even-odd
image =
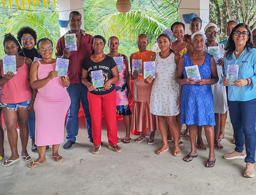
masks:
[[[216,36],[218,34],[218,27],[214,23],[209,23],[205,26],[204,32],[207,37],[207,43],[205,43],[205,52],[209,52],[215,58],[217,64],[218,77],[223,77],[222,67],[224,65],[224,45],[216,43]],[[220,141],[224,138],[224,129],[227,119],[227,92],[225,86],[221,86],[219,83],[212,85],[212,94],[214,100],[214,113],[215,122],[214,126],[214,145],[216,149],[222,150],[223,146]]]

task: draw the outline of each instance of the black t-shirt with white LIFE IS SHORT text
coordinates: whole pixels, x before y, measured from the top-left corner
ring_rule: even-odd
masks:
[[[113,69],[115,66],[116,66],[116,62],[113,60],[113,58],[106,55],[104,60],[102,60],[101,62],[93,62],[93,60],[91,60],[90,57],[87,57],[85,58],[82,67],[84,70],[87,70],[87,75],[88,75],[87,80],[90,83],[92,83],[91,72],[96,70],[102,70],[103,80],[105,83],[108,79],[111,79],[113,77],[111,69]],[[106,90],[103,87],[99,87],[91,91],[91,93],[95,95],[105,95],[112,92],[114,89],[115,89],[115,84],[111,84],[109,90]]]

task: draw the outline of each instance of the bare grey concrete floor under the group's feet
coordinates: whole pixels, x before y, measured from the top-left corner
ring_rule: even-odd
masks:
[[[231,143],[232,130],[226,130],[221,141],[224,150],[216,153],[216,165],[205,168],[208,152],[198,151],[198,158],[192,162],[182,161],[189,150],[189,141],[181,146],[182,155],[174,157],[173,147],[163,155],[155,150],[161,146],[160,132],[156,132],[156,143],[146,141],[135,143],[137,136],[131,136],[129,144],[119,143],[121,153],[107,148],[105,123],[102,131],[103,147],[98,155],[90,153],[93,145],[87,139],[83,119],[80,119],[79,135],[72,149],[59,149],[64,161],[55,162],[51,149],[47,151],[47,162],[31,169],[28,163],[20,161],[12,166],[0,166],[0,195],[254,195],[256,177],[244,178],[243,160],[227,161],[223,157],[234,149]],[[125,128],[118,122],[118,135],[123,138]],[[6,134],[5,134],[6,135]],[[205,136],[204,136],[205,137]],[[205,139],[204,139],[205,141]],[[206,143],[206,141],[205,141]],[[10,149],[5,140],[4,159],[9,157]],[[37,153],[31,152],[32,159]],[[20,141],[19,141],[20,150]],[[1,163],[3,160],[1,161]]]

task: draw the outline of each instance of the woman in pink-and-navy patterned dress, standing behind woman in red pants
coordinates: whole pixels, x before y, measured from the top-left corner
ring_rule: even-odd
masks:
[[[131,99],[130,73],[128,57],[118,53],[119,39],[110,37],[108,39],[109,53],[108,56],[113,57],[119,73],[119,80],[115,83],[116,89],[116,112],[119,116],[123,116],[126,129],[126,135],[123,143],[130,143],[131,131],[131,110],[129,100]],[[119,139],[118,139],[119,141]]]

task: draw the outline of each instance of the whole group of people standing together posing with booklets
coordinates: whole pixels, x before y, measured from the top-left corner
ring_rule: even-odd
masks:
[[[6,34],[3,46],[7,55],[16,56],[17,74],[3,74],[3,60],[0,60],[0,106],[6,124],[12,155],[2,164],[9,166],[18,161],[17,123],[20,128],[22,160],[31,161],[26,146],[32,139],[32,151],[38,151],[38,158],[29,167],[46,161],[45,153],[52,145],[52,158],[63,161],[58,154],[60,143],[64,142],[64,121],[67,116],[67,142],[64,149],[70,149],[78,135],[78,113],[80,103],[84,109],[88,138],[98,154],[102,147],[102,112],[107,124],[108,148],[121,152],[117,145],[116,113],[122,115],[126,129],[123,143],[131,141],[131,129],[139,135],[140,143],[150,131],[148,144],[154,144],[155,130],[159,129],[162,146],[156,150],[162,155],[169,150],[173,141],[173,155],[180,156],[183,140],[188,135],[191,151],[183,161],[190,162],[198,156],[197,148],[207,150],[202,140],[204,127],[209,146],[209,158],[205,167],[215,166],[214,148],[222,150],[224,127],[229,108],[234,129],[235,151],[224,155],[225,159],[244,159],[245,177],[254,176],[256,146],[256,30],[231,20],[227,23],[227,39],[216,42],[218,26],[209,23],[201,32],[202,21],[195,17],[190,21],[191,35],[185,34],[185,26],[175,22],[171,30],[177,40],[171,42],[169,34],[157,37],[159,52],[147,50],[146,34],[137,36],[139,51],[130,56],[118,52],[119,39],[112,36],[105,40],[101,35],[86,34],[81,30],[82,16],[78,11],[69,15],[70,31],[76,34],[77,51],[65,48],[64,36],[58,40],[56,57],[69,59],[67,76],[60,77],[55,71],[56,59],[52,58],[52,41],[42,38],[37,41],[36,33],[29,27],[20,29],[17,39]],[[22,45],[22,48],[20,47]],[[37,44],[37,49],[35,49]],[[104,54],[108,44],[109,53]],[[208,47],[219,46],[220,57],[208,53]],[[39,57],[39,60],[34,60]],[[115,57],[123,57],[118,69]],[[155,62],[155,77],[144,78],[133,71],[133,61]],[[33,62],[32,62],[33,61]],[[238,79],[230,83],[227,66],[239,64]],[[143,65],[143,63],[142,63]],[[200,79],[188,78],[186,68],[198,65]],[[93,86],[92,74],[102,71],[103,87]],[[134,80],[133,106],[130,79]],[[33,112],[35,111],[35,112]],[[47,123],[45,122],[47,121]],[[186,124],[186,130],[181,127]],[[196,141],[197,139],[197,141]],[[246,154],[244,153],[244,147]],[[0,155],[3,157],[3,130],[0,128]]]

